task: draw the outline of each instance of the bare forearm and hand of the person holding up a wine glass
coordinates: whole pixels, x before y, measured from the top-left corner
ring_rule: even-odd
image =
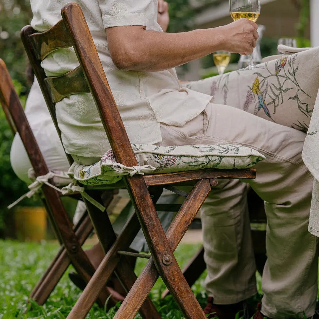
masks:
[[[226,26],[182,33],[146,30],[145,26],[106,29],[113,63],[121,70],[160,71],[218,50],[248,55],[258,39],[256,23],[240,19]]]

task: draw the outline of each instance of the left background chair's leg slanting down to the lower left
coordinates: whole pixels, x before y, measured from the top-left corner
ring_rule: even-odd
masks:
[[[78,237],[80,245],[83,245],[83,243],[93,230],[93,225],[91,223],[90,217],[87,214],[85,215],[86,216],[81,219],[75,227],[75,234]],[[70,258],[67,254],[66,249],[64,248],[64,246],[62,246],[56,257],[48,267],[47,271],[43,274],[38,284],[33,288],[33,291],[31,292],[29,297],[32,298],[38,305],[43,305],[55,288],[56,284],[63,276],[69,264]]]

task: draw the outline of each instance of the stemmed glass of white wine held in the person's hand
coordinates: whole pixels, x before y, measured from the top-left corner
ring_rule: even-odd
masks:
[[[234,21],[246,18],[256,22],[260,14],[259,0],[229,0],[229,12]],[[247,69],[254,69],[253,58],[249,56],[249,65]]]

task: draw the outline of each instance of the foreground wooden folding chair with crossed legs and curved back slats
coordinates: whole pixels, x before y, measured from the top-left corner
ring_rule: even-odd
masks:
[[[52,118],[56,123],[56,101],[70,94],[91,92],[116,161],[128,167],[137,166],[136,157],[81,8],[78,4],[69,3],[63,7],[61,12],[63,20],[47,32],[37,33],[31,26],[26,26],[21,31],[24,46]],[[75,49],[80,67],[61,77],[46,78],[44,70],[41,68],[41,61],[54,50],[71,46]],[[113,271],[116,271],[122,280],[124,277],[121,274],[124,274],[125,271],[130,277],[130,282],[124,283],[129,292],[114,318],[134,318],[139,309],[141,311],[144,307],[146,308],[145,302],[148,300],[148,293],[159,276],[163,278],[186,318],[206,318],[190,290],[173,252],[191,221],[195,218],[211,187],[217,185],[218,178],[254,179],[255,176],[254,169],[201,169],[144,176],[137,174],[130,177],[125,175],[120,182],[115,184],[97,187],[84,186],[86,193],[97,201],[100,189],[126,188],[130,193],[136,213],[129,218],[122,232],[116,237],[107,214],[102,220],[102,217],[96,213],[97,208],[84,198],[106,256],[68,318],[85,318]],[[175,188],[175,186],[185,185],[193,186],[189,194]],[[161,208],[162,206],[155,204],[163,187],[186,197],[185,202],[179,205],[179,211],[166,234],[156,211],[156,207]],[[152,257],[136,280],[135,275],[127,271],[125,255],[130,255],[126,250],[140,227],[143,229]],[[145,257],[145,255],[139,254],[137,256]],[[144,317],[148,319],[160,318],[156,312],[148,312]]]

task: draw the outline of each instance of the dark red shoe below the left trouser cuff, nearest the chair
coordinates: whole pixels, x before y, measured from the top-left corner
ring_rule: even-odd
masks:
[[[215,305],[213,297],[208,297],[204,313],[208,318],[218,317],[219,319],[234,319],[239,311],[243,310],[243,302],[232,305]]]

